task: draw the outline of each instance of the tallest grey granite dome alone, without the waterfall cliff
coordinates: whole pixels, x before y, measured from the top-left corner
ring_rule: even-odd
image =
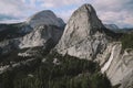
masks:
[[[93,59],[108,43],[102,22],[91,4],[80,7],[70,18],[55,50],[80,58]]]

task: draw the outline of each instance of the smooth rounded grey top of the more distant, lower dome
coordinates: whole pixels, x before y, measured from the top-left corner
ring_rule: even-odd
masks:
[[[30,24],[32,28],[37,28],[40,25],[64,25],[64,22],[50,10],[44,10],[35,13],[28,19],[27,23]]]

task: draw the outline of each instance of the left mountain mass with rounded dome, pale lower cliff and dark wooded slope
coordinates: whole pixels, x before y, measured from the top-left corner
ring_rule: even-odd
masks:
[[[47,48],[45,45],[54,46],[62,35],[64,25],[63,20],[48,10],[34,14],[23,23],[1,24],[0,47],[2,53],[9,53],[12,47],[20,50],[34,46]]]

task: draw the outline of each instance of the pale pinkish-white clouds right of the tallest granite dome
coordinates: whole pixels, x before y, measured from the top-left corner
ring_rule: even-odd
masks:
[[[120,28],[133,26],[132,0],[94,0],[92,4],[103,23],[115,23]]]

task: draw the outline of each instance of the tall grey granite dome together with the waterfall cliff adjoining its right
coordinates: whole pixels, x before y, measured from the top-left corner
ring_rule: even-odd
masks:
[[[133,75],[133,51],[122,53],[121,42],[110,40],[110,35],[113,32],[104,29],[94,9],[84,4],[70,18],[54,51],[99,62],[101,72],[113,86],[121,84],[120,88],[126,88],[133,85],[130,78]]]

